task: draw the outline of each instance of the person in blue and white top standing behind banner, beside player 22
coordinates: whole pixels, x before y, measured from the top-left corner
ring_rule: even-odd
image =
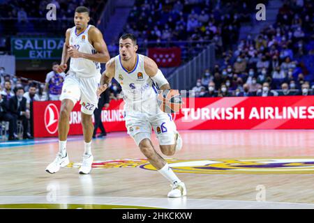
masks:
[[[45,92],[49,95],[49,100],[59,100],[61,95],[63,79],[66,74],[64,72],[59,74],[57,72],[58,66],[57,62],[52,63],[52,71],[47,73],[46,76]]]

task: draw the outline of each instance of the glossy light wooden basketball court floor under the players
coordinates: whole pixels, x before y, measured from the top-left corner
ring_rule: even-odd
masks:
[[[168,199],[170,183],[133,139],[112,132],[94,139],[89,175],[78,174],[81,136],[68,139],[71,163],[56,174],[45,168],[57,139],[2,142],[0,208],[314,208],[313,130],[180,133],[184,147],[167,159],[186,183],[184,198]]]

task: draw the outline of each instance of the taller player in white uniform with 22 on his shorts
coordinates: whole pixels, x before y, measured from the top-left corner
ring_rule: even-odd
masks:
[[[100,83],[100,63],[110,60],[107,45],[102,33],[88,24],[89,9],[80,6],[75,9],[75,26],[66,31],[66,43],[63,45],[61,65],[58,72],[64,72],[70,59],[70,69],[63,83],[61,111],[58,123],[59,153],[56,159],[47,166],[46,171],[54,174],[60,167],[68,165],[66,139],[69,130],[69,116],[75,103],[80,100],[82,127],[84,134],[84,155],[80,174],[89,174],[94,160],[91,154],[91,138],[94,125],[92,115],[98,104],[96,91]]]

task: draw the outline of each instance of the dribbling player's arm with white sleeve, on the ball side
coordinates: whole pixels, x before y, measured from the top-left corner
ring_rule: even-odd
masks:
[[[163,72],[158,69],[155,61],[147,56],[145,56],[144,58],[144,69],[147,75],[149,75],[149,77],[151,77],[151,79],[156,82],[160,90],[171,89],[169,82],[167,81],[167,79],[165,79],[165,76],[163,75]]]

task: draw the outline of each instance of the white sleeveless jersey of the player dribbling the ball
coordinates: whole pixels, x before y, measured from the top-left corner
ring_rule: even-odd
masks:
[[[128,71],[122,66],[120,56],[116,56],[114,79],[119,82],[124,94],[126,112],[145,112],[155,114],[157,109],[158,90],[153,80],[144,69],[144,55],[137,54],[135,67]]]

